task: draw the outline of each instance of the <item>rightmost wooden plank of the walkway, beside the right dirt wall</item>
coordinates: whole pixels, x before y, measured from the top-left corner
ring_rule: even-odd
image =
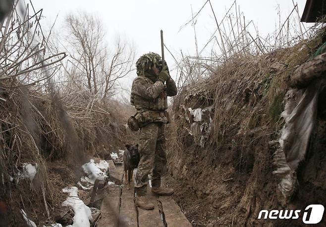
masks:
[[[171,196],[160,196],[159,200],[162,202],[165,221],[168,227],[192,227]]]

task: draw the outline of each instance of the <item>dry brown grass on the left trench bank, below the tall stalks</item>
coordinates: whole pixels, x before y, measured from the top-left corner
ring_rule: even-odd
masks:
[[[61,205],[62,187],[79,180],[77,170],[86,162],[86,155],[109,156],[110,151],[122,147],[121,135],[126,129],[112,117],[115,108],[86,92],[56,99],[12,80],[3,81],[1,88],[4,92],[0,97],[6,102],[0,103],[0,171],[4,185],[0,200],[12,214],[8,220],[21,217],[19,209],[25,206],[29,217],[45,223]],[[124,116],[120,117],[122,122]],[[50,161],[61,164],[55,167]],[[15,180],[23,171],[23,163],[38,166],[32,183],[28,179],[18,183]],[[60,169],[58,178],[52,171]],[[26,190],[29,195],[24,197]],[[49,215],[35,206],[47,207]]]

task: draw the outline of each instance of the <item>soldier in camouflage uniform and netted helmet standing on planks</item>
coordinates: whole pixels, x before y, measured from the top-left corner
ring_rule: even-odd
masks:
[[[171,195],[173,189],[161,185],[166,168],[165,124],[169,122],[167,96],[177,94],[174,81],[169,75],[165,62],[157,53],[147,53],[136,62],[137,77],[132,83],[130,102],[137,109],[139,132],[138,169],[134,175],[136,205],[143,210],[154,209],[147,200],[148,174],[153,169],[152,192]],[[166,85],[164,85],[166,82]]]

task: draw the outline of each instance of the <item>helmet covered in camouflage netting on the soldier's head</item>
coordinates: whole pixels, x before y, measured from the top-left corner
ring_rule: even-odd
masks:
[[[136,62],[137,75],[144,75],[154,65],[162,64],[162,58],[159,54],[149,52],[142,55]]]

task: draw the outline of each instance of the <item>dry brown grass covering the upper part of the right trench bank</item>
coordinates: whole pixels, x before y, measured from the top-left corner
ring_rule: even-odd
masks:
[[[185,119],[188,107],[214,105],[207,138],[213,153],[232,144],[232,139],[242,138],[246,141],[243,145],[251,143],[256,138],[248,139],[247,134],[252,130],[262,128],[263,133],[276,136],[273,132],[280,130],[282,124],[280,113],[288,78],[325,42],[323,31],[320,30],[314,39],[266,54],[237,54],[212,66],[210,74],[197,78],[195,83],[186,83],[174,98],[176,129],[171,129],[174,132],[170,138],[171,150],[181,150],[181,144],[189,137],[193,122]]]

